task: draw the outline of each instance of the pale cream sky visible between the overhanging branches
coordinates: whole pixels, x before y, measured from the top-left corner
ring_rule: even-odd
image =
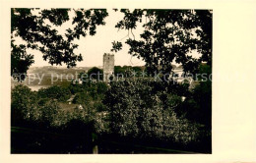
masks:
[[[123,29],[118,31],[118,28],[115,27],[115,25],[122,20],[123,14],[113,10],[107,10],[107,12],[108,16],[105,18],[106,24],[105,26],[96,27],[96,35],[87,35],[86,37],[82,36],[79,40],[75,41],[75,43],[79,45],[75,52],[77,52],[77,54],[81,53],[83,56],[83,61],[77,62],[77,67],[102,66],[104,53],[113,53],[115,55],[115,65],[145,65],[145,62],[141,59],[139,60],[137,57],[131,57],[131,55],[128,54],[129,46],[124,43],[128,38],[128,30]],[[58,31],[62,33],[70,26],[71,21],[59,27]],[[135,37],[139,37],[141,31],[142,27],[140,26],[134,30]],[[123,43],[122,50],[117,53],[110,51],[112,48],[111,42],[114,40],[121,41]],[[40,52],[35,50],[31,50],[31,52],[34,54],[34,64],[32,64],[32,67],[50,66],[47,61],[43,61],[42,54]],[[62,65],[62,67],[66,66]]]

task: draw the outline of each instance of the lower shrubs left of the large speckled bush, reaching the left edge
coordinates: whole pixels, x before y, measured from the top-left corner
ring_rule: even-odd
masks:
[[[77,93],[73,100],[73,102],[81,104],[82,107],[67,111],[59,106],[57,99],[62,98],[53,93],[53,90],[64,91],[66,88],[52,86],[36,92],[26,85],[17,85],[12,89],[12,126],[68,133],[74,133],[74,130],[80,129],[76,132],[81,134],[85,131],[89,133],[102,131],[103,128],[96,128],[104,126],[100,123],[103,115],[101,111],[105,110],[105,106],[100,100],[102,93],[97,94],[96,92],[104,92],[106,88],[105,83],[84,85],[82,88],[84,91],[81,90],[82,92]],[[95,96],[92,96],[92,90],[94,90]]]

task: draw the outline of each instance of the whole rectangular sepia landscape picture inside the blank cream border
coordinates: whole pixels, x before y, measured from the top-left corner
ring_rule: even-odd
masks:
[[[11,10],[11,153],[212,153],[212,10]]]

